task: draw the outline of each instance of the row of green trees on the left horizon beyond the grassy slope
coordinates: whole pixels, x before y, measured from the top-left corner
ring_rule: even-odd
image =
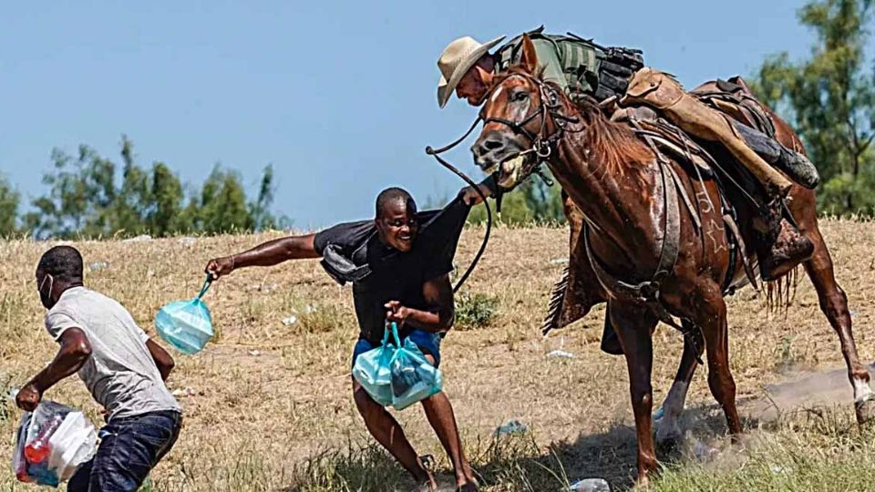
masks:
[[[185,205],[182,183],[167,164],[139,167],[133,142],[126,136],[122,136],[120,154],[117,179],[118,165],[95,149],[79,146],[76,157],[54,149],[55,171],[43,178],[49,192],[33,201],[35,210],[26,214],[26,227],[36,237],[167,236],[257,231],[287,222],[270,212],[272,166],[264,169],[258,197],[252,203],[246,200],[240,175],[217,165]],[[5,197],[2,191],[0,186],[0,207]]]

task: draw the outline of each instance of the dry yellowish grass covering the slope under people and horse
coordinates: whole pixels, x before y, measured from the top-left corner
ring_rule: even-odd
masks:
[[[871,223],[823,224],[837,274],[853,310],[860,353],[873,358],[870,326],[875,309]],[[482,230],[463,234],[458,264],[466,265]],[[567,257],[563,229],[495,231],[468,292],[495,296],[498,315],[489,326],[450,334],[442,369],[468,454],[487,490],[560,490],[567,481],[605,477],[627,487],[634,468],[634,435],[622,358],[598,349],[603,309],[577,325],[540,337],[548,292],[561,272],[551,262]],[[213,256],[239,251],[273,234],[197,241],[86,241],[77,243],[86,264],[108,267],[87,273],[88,285],[126,305],[154,334],[152,316],[166,302],[193,296],[201,268]],[[26,381],[57,346],[42,328],[33,269],[49,244],[0,242],[0,389]],[[153,490],[405,490],[411,484],[366,436],[350,397],[349,356],[356,327],[351,292],[336,286],[316,261],[236,272],[207,295],[220,336],[195,356],[176,355],[172,389],[185,423],[180,442],[153,473]],[[309,307],[308,307],[309,306]],[[739,399],[763,395],[788,368],[842,364],[838,340],[818,309],[807,279],[799,283],[787,316],[769,316],[765,302],[742,291],[729,300],[732,369]],[[295,315],[291,326],[283,319]],[[661,401],[671,383],[681,339],[661,327],[655,334],[654,388]],[[573,359],[546,357],[562,348]],[[71,378],[46,397],[98,408]],[[693,437],[724,446],[725,425],[707,392],[704,371],[691,389],[686,428]],[[18,411],[0,405],[0,462],[9,462]],[[662,490],[856,490],[875,488],[875,442],[849,425],[850,405],[820,417],[748,421],[746,446],[728,446],[720,466],[681,457],[654,485]],[[421,454],[436,456],[445,479],[447,461],[424,415],[398,414]],[[509,419],[530,425],[524,436],[493,441]],[[777,465],[773,471],[771,466]],[[851,473],[856,472],[856,473]],[[849,476],[848,478],[841,478]],[[810,486],[810,487],[809,487]],[[750,488],[748,487],[748,488]],[[0,474],[0,490],[16,486]]]

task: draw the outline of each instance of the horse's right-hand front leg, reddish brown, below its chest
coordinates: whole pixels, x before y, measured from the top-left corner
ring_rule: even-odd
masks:
[[[711,395],[723,407],[726,425],[733,436],[741,434],[741,419],[736,408],[736,382],[729,371],[729,333],[726,325],[726,302],[717,285],[703,289],[702,305],[695,313],[695,323],[705,335],[708,354],[708,386]]]

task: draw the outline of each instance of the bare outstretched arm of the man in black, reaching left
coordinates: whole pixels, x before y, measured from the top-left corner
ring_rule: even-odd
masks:
[[[283,261],[319,258],[321,255],[315,250],[314,237],[315,234],[307,234],[267,241],[252,250],[213,259],[204,270],[213,279],[218,279],[239,268],[273,266]]]

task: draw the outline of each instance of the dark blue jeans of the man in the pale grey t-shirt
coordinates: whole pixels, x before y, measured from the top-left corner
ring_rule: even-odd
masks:
[[[100,429],[98,454],[67,484],[69,492],[136,492],[180,436],[182,415],[152,412],[112,419]]]

